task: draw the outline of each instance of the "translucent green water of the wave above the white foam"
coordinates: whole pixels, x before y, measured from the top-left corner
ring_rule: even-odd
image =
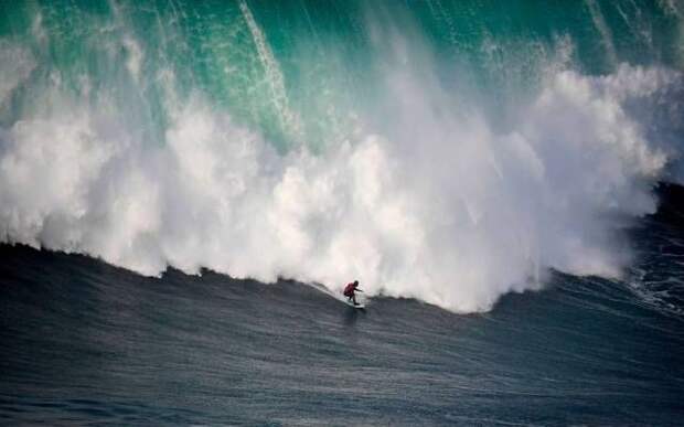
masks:
[[[280,149],[353,140],[400,93],[387,73],[435,78],[505,115],[548,67],[682,66],[681,3],[666,1],[31,1],[0,4],[0,39],[30,76],[3,125],[60,106],[47,88],[105,97],[149,143],[194,97]],[[368,119],[371,118],[371,119]]]

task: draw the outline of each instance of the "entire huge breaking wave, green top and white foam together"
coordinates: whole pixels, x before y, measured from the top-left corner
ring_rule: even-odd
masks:
[[[483,311],[678,182],[678,3],[0,6],[0,239]]]

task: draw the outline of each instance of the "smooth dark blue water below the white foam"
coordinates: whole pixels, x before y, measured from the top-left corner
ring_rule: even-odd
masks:
[[[470,316],[1,246],[0,423],[678,425],[684,228],[667,206],[632,231],[631,282],[556,274]]]

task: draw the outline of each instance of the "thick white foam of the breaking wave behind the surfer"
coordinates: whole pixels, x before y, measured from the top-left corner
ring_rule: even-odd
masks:
[[[388,71],[392,126],[316,154],[277,153],[199,95],[167,98],[165,145],[150,145],[106,98],[55,88],[61,108],[0,132],[1,238],[145,275],[357,278],[463,312],[538,288],[549,268],[614,277],[629,261],[617,228],[655,210],[667,162],[638,107],[682,76],[551,73],[494,130],[429,76]]]

